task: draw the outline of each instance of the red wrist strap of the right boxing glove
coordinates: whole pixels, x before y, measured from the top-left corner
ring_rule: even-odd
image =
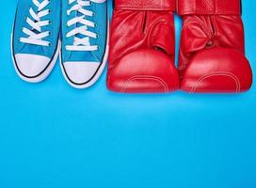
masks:
[[[240,0],[177,0],[179,15],[240,15]]]

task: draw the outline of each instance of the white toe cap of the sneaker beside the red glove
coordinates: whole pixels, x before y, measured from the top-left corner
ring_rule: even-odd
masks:
[[[83,88],[94,78],[99,70],[98,62],[65,62],[63,63],[65,74],[70,84],[77,88]]]

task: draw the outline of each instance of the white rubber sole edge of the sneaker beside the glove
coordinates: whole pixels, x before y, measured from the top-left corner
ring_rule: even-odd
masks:
[[[107,57],[108,57],[108,51],[109,51],[109,20],[107,17],[107,36],[106,36],[106,46],[105,46],[105,53],[104,53],[104,59],[103,62],[100,65],[99,70],[97,71],[97,73],[92,77],[92,79],[85,85],[75,85],[74,83],[72,83],[70,81],[70,79],[68,78],[68,75],[66,74],[66,72],[64,71],[64,65],[62,63],[62,59],[61,59],[61,55],[59,55],[59,59],[60,59],[60,68],[62,71],[62,74],[65,78],[65,80],[67,81],[67,83],[74,87],[74,88],[78,88],[78,89],[83,89],[83,88],[88,88],[90,86],[93,86],[101,77],[101,75],[103,74],[106,62],[107,62]]]

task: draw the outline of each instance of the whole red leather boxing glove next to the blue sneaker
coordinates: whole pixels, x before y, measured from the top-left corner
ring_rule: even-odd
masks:
[[[107,87],[116,92],[179,88],[174,65],[175,0],[115,0]]]

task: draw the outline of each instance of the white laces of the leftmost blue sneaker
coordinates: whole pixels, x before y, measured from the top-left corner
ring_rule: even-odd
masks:
[[[36,44],[41,46],[49,46],[50,42],[43,40],[50,35],[49,31],[42,32],[41,27],[49,25],[50,21],[41,20],[42,17],[50,13],[49,9],[44,9],[50,3],[50,0],[43,0],[41,3],[38,0],[32,0],[34,5],[38,8],[36,12],[33,8],[29,9],[30,16],[33,18],[26,18],[26,23],[31,26],[31,28],[23,28],[24,34],[27,35],[26,38],[21,38],[20,41],[29,44]],[[36,32],[34,32],[36,30]]]

